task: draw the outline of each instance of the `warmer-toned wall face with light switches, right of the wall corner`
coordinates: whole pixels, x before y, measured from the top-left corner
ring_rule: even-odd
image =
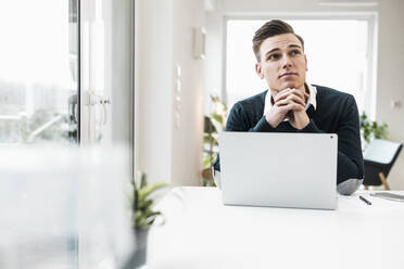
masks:
[[[173,63],[181,68],[181,91],[177,94],[180,107],[176,107],[177,101],[172,106],[179,116],[178,123],[174,123],[172,138],[172,181],[181,185],[200,185],[204,77],[203,60],[192,56],[192,28],[204,24],[203,1],[176,0],[174,3]],[[174,120],[177,120],[176,115]]]

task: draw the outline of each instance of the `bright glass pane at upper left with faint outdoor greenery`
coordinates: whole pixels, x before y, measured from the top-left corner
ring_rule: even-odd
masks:
[[[0,144],[78,138],[77,0],[0,3]]]

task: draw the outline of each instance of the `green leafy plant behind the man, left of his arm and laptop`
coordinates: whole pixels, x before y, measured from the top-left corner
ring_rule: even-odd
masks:
[[[218,152],[218,133],[226,129],[228,107],[218,97],[211,95],[214,110],[204,116],[202,185],[215,185],[212,166]]]

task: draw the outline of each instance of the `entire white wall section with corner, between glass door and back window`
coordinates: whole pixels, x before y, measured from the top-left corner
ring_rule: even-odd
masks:
[[[191,48],[202,25],[202,0],[136,1],[136,169],[152,181],[200,184],[203,62]]]

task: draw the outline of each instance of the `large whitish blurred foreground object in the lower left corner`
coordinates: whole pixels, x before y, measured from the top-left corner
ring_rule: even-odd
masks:
[[[115,268],[131,248],[125,148],[2,148],[0,268]]]

